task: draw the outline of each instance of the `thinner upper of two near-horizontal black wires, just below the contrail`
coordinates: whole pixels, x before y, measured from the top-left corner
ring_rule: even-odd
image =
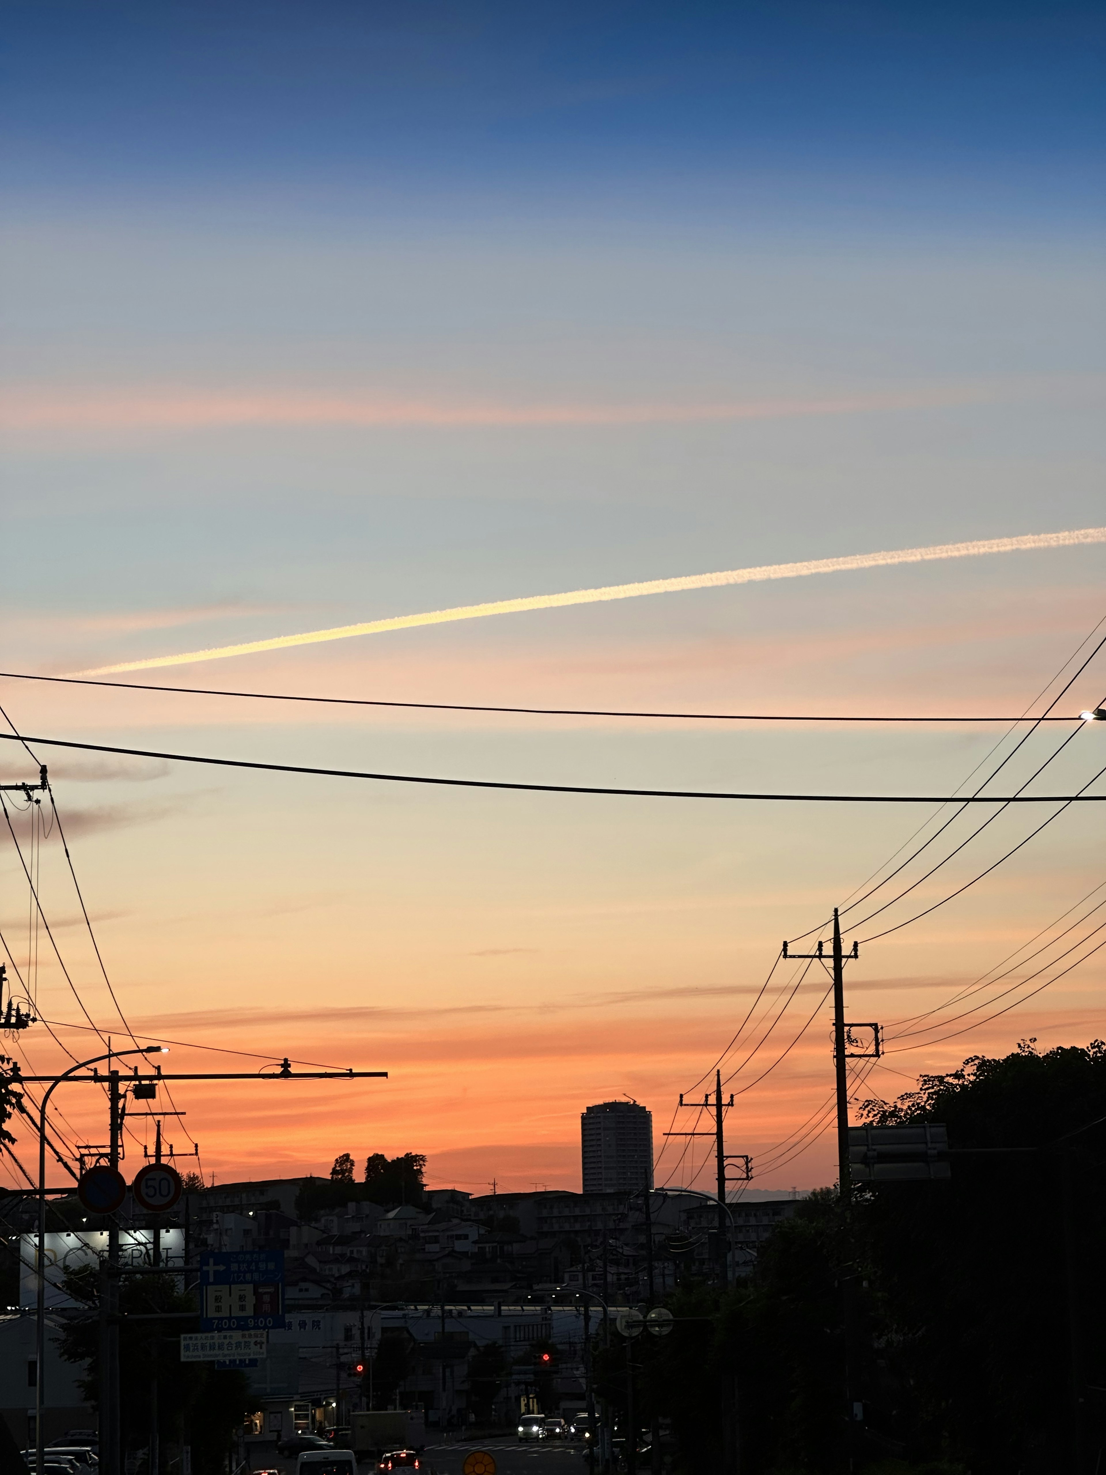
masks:
[[[636,717],[698,723],[1019,723],[1025,717],[872,717],[852,712],[637,712],[591,707],[485,707],[475,702],[391,702],[366,696],[302,696],[288,692],[226,692],[209,686],[155,686],[149,681],[94,681],[78,676],[35,676],[0,671],[12,681],[55,681],[63,686],[106,686],[124,692],[175,692],[181,696],[234,696],[255,702],[314,702],[327,707],[394,707],[422,712],[506,712],[519,717]],[[1079,715],[1040,721],[1078,723]]]

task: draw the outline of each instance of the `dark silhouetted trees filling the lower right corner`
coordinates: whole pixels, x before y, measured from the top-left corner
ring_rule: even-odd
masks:
[[[815,1193],[721,1292],[633,1344],[639,1409],[668,1416],[686,1471],[1099,1475],[1106,1468],[1106,1046],[975,1058],[923,1077],[877,1124],[941,1121],[950,1181]],[[851,1335],[845,1282],[851,1280]],[[597,1353],[625,1397],[625,1348]],[[851,1422],[845,1358],[852,1358]]]

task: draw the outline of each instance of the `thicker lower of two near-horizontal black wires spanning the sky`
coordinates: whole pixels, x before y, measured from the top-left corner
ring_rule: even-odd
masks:
[[[4,742],[21,742],[0,733]],[[451,789],[507,789],[524,794],[603,794],[644,799],[765,799],[796,804],[1097,804],[1106,794],[1018,794],[945,798],[932,794],[739,794],[723,789],[622,789],[599,783],[521,783],[509,779],[444,779],[413,773],[373,773],[361,768],[316,768],[293,763],[261,763],[249,758],[209,758],[201,754],[164,752],[153,748],[121,748],[115,743],[74,742],[63,738],[27,738],[46,748],[75,748],[81,752],[115,752],[128,758],[162,758],[168,763],[198,763],[215,768],[249,768],[258,773],[302,773],[321,779],[372,779],[380,783],[422,783]]]

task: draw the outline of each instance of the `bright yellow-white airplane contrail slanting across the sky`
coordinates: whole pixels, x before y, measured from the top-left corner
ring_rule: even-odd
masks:
[[[687,589],[720,589],[724,584],[759,584],[773,578],[807,578],[810,574],[842,574],[858,568],[883,568],[889,563],[928,563],[936,559],[979,558],[984,553],[1018,553],[1032,549],[1072,547],[1078,543],[1106,543],[1106,528],[1077,528],[1071,532],[1028,532],[1018,538],[987,538],[976,543],[938,543],[925,549],[894,549],[885,553],[849,553],[845,558],[807,559],[804,563],[762,563],[758,568],[731,568],[717,574],[686,574],[681,578],[653,578],[639,584],[608,584],[602,589],[572,589],[563,594],[529,594],[525,599],[497,599],[485,605],[457,605],[429,609],[420,615],[392,615],[367,620],[360,625],[335,625],[270,640],[183,650],[178,655],[149,656],[99,665],[71,676],[118,676],[122,671],[150,671],[164,665],[189,665],[193,661],[226,661],[234,655],[260,655],[262,650],[288,650],[292,646],[348,640],[352,636],[378,636],[389,630],[414,630],[419,625],[444,625],[454,620],[484,620],[487,615],[518,615],[526,609],[562,609],[568,605],[599,605],[609,599],[639,599],[643,594],[675,594]]]

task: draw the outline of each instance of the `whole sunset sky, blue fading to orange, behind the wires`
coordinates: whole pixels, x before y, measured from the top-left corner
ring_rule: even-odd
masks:
[[[1102,525],[1102,28],[1100,7],[1063,0],[9,6],[4,671]],[[1091,634],[1103,572],[1106,544],[1088,543],[134,680],[1013,718],[1043,711],[1106,633]],[[1106,650],[1056,711],[1105,698]],[[0,702],[44,738],[665,789],[947,795],[978,785],[1007,732],[419,714],[12,678]],[[1071,730],[1046,724],[990,792],[1013,792]],[[1,780],[34,780],[32,760],[1,746]],[[220,1180],[416,1150],[434,1186],[580,1187],[580,1112],[622,1094],[653,1111],[659,1148],[782,938],[846,906],[933,813],[35,754],[130,1028],[178,1041],[167,1069],[288,1055],[389,1072],[180,1086],[187,1115],[167,1136],[187,1146],[187,1127]],[[1106,726],[1087,724],[1029,792],[1072,794],[1103,766]],[[6,798],[29,864],[31,817]],[[846,940],[939,901],[1051,813],[997,816]],[[990,814],[956,820],[849,922]],[[38,1012],[91,1056],[103,1047],[78,1028],[41,928],[35,968],[27,882],[0,835],[10,957],[27,975],[29,948]],[[38,854],[77,991],[127,1044],[56,829]],[[1085,913],[1051,951],[947,1004]],[[861,947],[849,1016],[880,1021],[897,1053],[858,1099],[1025,1037],[1103,1035],[1106,948],[1000,1018],[978,1024],[1019,993],[947,1022],[1019,979],[1028,994],[1050,976],[1028,975],[1082,937],[1096,945],[1102,922],[1102,805],[1085,804]],[[758,1189],[835,1174],[832,1136],[801,1136],[832,1090],[827,979],[815,966],[787,1003],[798,976],[777,968],[724,1063],[742,1066],[728,1150],[764,1165]],[[931,1009],[929,1032],[897,1027]],[[41,1024],[4,1049],[27,1069],[69,1063]],[[56,1096],[69,1143],[103,1142],[91,1093]],[[147,1128],[134,1122],[128,1176]],[[18,1136],[29,1167],[34,1140]],[[792,1158],[789,1142],[807,1150]],[[658,1183],[709,1189],[702,1149],[681,1150],[665,1150]]]

